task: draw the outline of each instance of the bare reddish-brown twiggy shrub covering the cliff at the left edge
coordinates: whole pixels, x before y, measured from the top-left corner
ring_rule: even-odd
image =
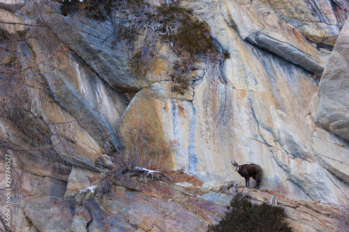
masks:
[[[37,20],[31,26],[29,32],[0,30],[0,121],[14,127],[25,144],[0,137],[0,148],[15,150],[23,157],[39,155],[53,161],[59,159],[57,148],[68,151],[72,144],[77,146],[75,134],[84,116],[55,123],[45,121],[40,110],[36,111],[38,102],[54,102],[44,72],[58,68],[57,60],[66,59],[68,47],[54,36],[50,25]],[[33,38],[45,44],[47,53],[36,57],[31,54],[26,43]]]

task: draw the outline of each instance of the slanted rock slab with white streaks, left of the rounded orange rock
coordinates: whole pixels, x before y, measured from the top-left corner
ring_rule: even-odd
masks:
[[[38,31],[33,29],[28,37],[36,33]],[[114,126],[126,109],[126,99],[110,88],[80,57],[66,50],[50,30],[46,36],[49,38],[36,36],[29,39],[28,48],[22,45],[23,53],[32,50],[39,63],[45,59],[43,54],[52,57],[54,65],[39,68],[50,85],[54,99],[72,116],[81,118],[82,124],[89,124],[86,127],[89,134],[103,146],[106,139],[112,137]],[[57,48],[56,51],[52,51],[52,47],[45,47],[47,40]],[[28,56],[25,59],[34,59]]]

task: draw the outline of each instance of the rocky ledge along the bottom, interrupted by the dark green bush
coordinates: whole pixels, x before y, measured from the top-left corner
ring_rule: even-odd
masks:
[[[171,176],[174,178],[172,185],[168,181],[121,180],[111,192],[102,196],[94,190],[77,193],[75,199],[80,199],[77,202],[29,196],[22,207],[31,227],[39,231],[207,231],[209,224],[217,223],[225,214],[224,206],[229,204],[230,196],[199,192],[200,184],[194,179],[187,179],[193,183],[190,187],[174,187],[175,180],[185,175]],[[186,194],[177,192],[178,188]],[[246,197],[252,196],[253,203],[272,201],[285,208],[287,221],[294,231],[337,230],[328,206],[290,201],[273,192],[246,194]]]

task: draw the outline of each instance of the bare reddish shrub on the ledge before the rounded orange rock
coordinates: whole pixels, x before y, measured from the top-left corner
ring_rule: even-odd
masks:
[[[166,157],[177,144],[177,141],[161,141],[151,129],[151,122],[140,120],[126,130],[126,147],[122,153],[112,155],[114,169],[103,173],[98,180],[98,192],[105,194],[113,185],[121,185],[125,178],[135,180],[170,179],[164,172],[168,169]]]

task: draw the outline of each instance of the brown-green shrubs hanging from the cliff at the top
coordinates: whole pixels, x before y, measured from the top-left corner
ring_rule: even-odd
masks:
[[[229,52],[218,53],[208,24],[193,17],[190,10],[175,4],[153,6],[145,0],[91,1],[60,1],[63,4],[62,14],[67,15],[66,10],[76,11],[79,8],[87,17],[96,19],[98,16],[100,20],[106,20],[105,14],[109,14],[121,20],[114,25],[117,36],[114,44],[126,42],[131,54],[129,63],[135,75],[145,75],[158,58],[159,46],[168,43],[179,57],[170,75],[172,91],[185,93],[193,83],[191,71],[198,61],[209,65],[213,61],[215,66],[221,68],[224,59],[230,57]],[[70,5],[71,8],[68,7]],[[121,25],[126,19],[129,21],[128,26]],[[138,46],[133,50],[136,38],[141,38],[138,34],[142,35],[142,41],[138,41]],[[211,75],[220,80],[221,73],[216,68],[211,70],[214,70]]]

